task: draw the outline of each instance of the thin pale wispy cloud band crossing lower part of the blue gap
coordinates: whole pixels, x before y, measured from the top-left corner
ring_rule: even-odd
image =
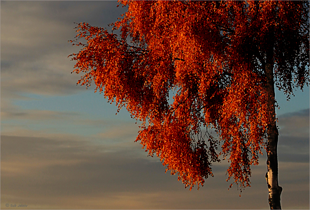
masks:
[[[92,119],[88,114],[67,111],[18,109],[3,105],[1,109],[1,134],[68,138],[87,136],[90,141],[104,144],[133,143],[139,131],[138,124],[119,119]],[[140,146],[139,146],[140,147]]]

